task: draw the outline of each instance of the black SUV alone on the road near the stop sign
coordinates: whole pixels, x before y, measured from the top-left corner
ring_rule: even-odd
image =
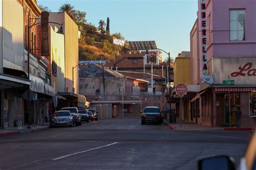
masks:
[[[164,121],[163,114],[159,107],[145,107],[142,112],[142,125],[145,123],[161,124]]]

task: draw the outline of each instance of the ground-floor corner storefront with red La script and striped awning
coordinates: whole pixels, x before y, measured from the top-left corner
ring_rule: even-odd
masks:
[[[209,71],[214,83],[200,94],[200,122],[208,126],[236,124],[241,108],[241,126],[252,128],[255,115],[256,58],[212,58]]]

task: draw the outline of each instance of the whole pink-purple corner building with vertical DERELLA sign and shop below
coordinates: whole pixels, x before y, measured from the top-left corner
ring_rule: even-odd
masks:
[[[191,84],[201,90],[191,100],[193,122],[235,125],[240,107],[241,126],[255,125],[255,18],[255,0],[198,0],[190,33]]]

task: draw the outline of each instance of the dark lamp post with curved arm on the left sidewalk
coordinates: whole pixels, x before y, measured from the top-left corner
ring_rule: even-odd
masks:
[[[57,24],[57,25],[61,25],[60,29],[58,30],[57,33],[62,33],[63,34],[63,30],[62,30],[62,24],[59,23],[55,23],[55,22],[39,22],[39,23],[35,23],[30,25],[30,19],[38,19],[38,18],[30,18],[30,15],[28,16],[28,79],[30,80],[30,28],[32,26],[38,25],[38,24],[42,24],[42,23],[53,23],[53,24]],[[28,86],[28,129],[31,129],[30,127],[30,100],[29,100],[29,90],[30,90],[30,86]]]

